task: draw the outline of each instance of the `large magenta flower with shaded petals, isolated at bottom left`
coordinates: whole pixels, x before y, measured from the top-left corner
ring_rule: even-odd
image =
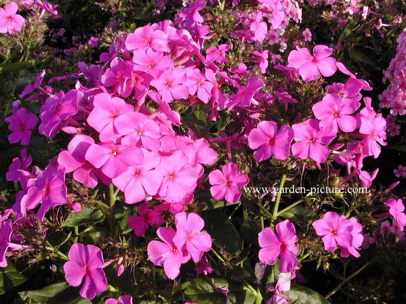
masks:
[[[89,300],[107,290],[103,271],[103,252],[94,245],[73,244],[67,253],[69,261],[63,264],[66,282],[74,287],[82,284],[80,295]]]

